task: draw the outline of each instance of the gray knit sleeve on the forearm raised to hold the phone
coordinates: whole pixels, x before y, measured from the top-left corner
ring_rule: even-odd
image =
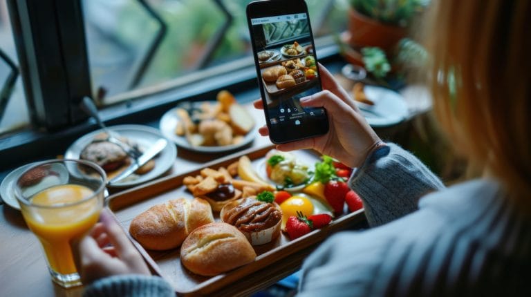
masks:
[[[362,198],[372,227],[416,211],[423,195],[445,188],[425,164],[396,144],[373,152],[348,183]]]

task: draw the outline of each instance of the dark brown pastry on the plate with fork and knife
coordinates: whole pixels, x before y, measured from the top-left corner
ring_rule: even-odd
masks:
[[[118,144],[106,141],[91,142],[85,146],[80,159],[92,161],[106,172],[114,171],[129,162],[127,153]]]

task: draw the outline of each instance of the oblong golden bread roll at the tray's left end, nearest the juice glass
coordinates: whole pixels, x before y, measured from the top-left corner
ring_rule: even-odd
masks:
[[[180,246],[190,232],[211,222],[214,217],[208,202],[201,198],[178,198],[137,215],[129,233],[142,247],[163,251]]]

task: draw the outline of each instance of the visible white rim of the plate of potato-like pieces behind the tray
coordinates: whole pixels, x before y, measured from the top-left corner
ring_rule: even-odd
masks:
[[[203,102],[197,102],[194,104],[201,103]],[[245,135],[243,141],[239,144],[232,144],[228,146],[192,146],[192,144],[190,144],[188,140],[186,140],[186,137],[175,134],[175,128],[178,122],[180,121],[176,113],[177,108],[178,107],[171,108],[164,115],[162,115],[162,117],[160,118],[159,128],[162,132],[162,135],[167,137],[169,140],[175,142],[178,146],[182,148],[187,148],[190,151],[198,151],[201,153],[222,153],[227,151],[234,151],[236,148],[241,148],[242,146],[250,144],[258,133],[258,125],[254,124],[254,128],[252,128],[252,130]]]

